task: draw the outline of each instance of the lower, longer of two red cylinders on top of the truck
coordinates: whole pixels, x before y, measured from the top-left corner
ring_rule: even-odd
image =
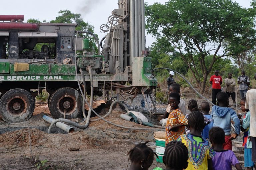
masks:
[[[35,23],[0,23],[0,30],[33,30],[37,31],[39,25]]]

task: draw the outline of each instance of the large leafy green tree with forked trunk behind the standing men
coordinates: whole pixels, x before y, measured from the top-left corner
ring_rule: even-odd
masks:
[[[148,33],[175,46],[201,93],[218,59],[251,48],[255,41],[255,13],[232,0],[170,0],[146,5],[145,16]]]

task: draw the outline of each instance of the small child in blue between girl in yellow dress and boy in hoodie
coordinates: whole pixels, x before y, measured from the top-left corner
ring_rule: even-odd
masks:
[[[212,116],[209,114],[210,112],[210,105],[208,102],[201,103],[201,112],[204,114],[204,117],[207,119],[211,119]],[[213,121],[211,121],[208,125],[205,125],[203,129],[202,137],[208,139],[209,138],[209,130],[213,127]]]

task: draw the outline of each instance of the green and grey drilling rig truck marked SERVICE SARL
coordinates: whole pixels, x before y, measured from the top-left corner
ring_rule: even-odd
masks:
[[[83,109],[79,84],[84,93],[104,100],[111,100],[112,91],[117,100],[119,95],[132,99],[157,85],[146,56],[144,0],[118,0],[118,9],[101,26],[107,34],[100,42],[90,32],[75,32],[76,24],[23,20],[23,15],[0,16],[0,114],[5,121],[28,120],[43,91],[49,93],[51,115],[71,119]],[[98,48],[81,34],[91,34]]]

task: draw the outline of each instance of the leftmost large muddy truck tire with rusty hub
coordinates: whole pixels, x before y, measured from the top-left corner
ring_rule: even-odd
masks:
[[[34,97],[24,89],[11,89],[0,99],[1,115],[8,122],[23,122],[32,116],[34,110]]]

